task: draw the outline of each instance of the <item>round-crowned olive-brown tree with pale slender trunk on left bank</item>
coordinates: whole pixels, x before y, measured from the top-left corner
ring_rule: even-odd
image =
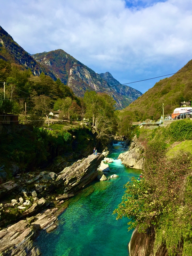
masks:
[[[34,97],[34,105],[36,113],[45,115],[47,117],[47,122],[49,125],[48,116],[51,111],[52,100],[45,95],[36,96]]]

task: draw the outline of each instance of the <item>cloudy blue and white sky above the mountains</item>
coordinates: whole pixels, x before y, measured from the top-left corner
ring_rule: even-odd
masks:
[[[0,0],[0,25],[31,54],[62,49],[122,84],[192,59],[192,0]]]

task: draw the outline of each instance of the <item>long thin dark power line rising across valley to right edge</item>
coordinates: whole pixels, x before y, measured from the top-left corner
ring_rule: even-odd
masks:
[[[190,69],[187,69],[187,70],[183,70],[183,71],[179,71],[179,72],[175,72],[175,73],[172,73],[172,74],[167,74],[167,75],[163,75],[163,76],[156,76],[156,77],[152,77],[152,78],[148,78],[148,79],[143,79],[143,80],[138,80],[138,81],[134,81],[134,82],[129,82],[129,83],[125,83],[125,84],[117,84],[117,85],[111,85],[111,86],[104,86],[104,87],[99,87],[99,88],[94,88],[94,89],[85,89],[85,90],[81,90],[81,91],[73,91],[73,92],[89,92],[89,91],[96,91],[96,90],[100,90],[100,89],[104,89],[104,88],[111,88],[111,87],[116,87],[116,86],[121,86],[121,85],[126,85],[126,84],[134,84],[134,83],[139,83],[139,82],[143,82],[143,81],[148,81],[148,80],[152,80],[152,79],[156,79],[156,78],[160,78],[160,77],[164,77],[164,76],[171,76],[171,75],[174,75],[174,74],[178,74],[178,73],[182,73],[182,72],[187,72],[187,71],[190,71],[192,70],[192,68]],[[3,83],[3,82],[1,82]],[[70,87],[69,87],[70,88]],[[24,92],[24,93],[27,93],[27,92]],[[29,94],[29,93],[28,93]],[[48,95],[45,95],[45,96],[56,96],[56,95],[63,95],[65,93],[58,93],[58,94],[48,94]],[[20,99],[29,99],[31,97],[26,97],[26,98],[15,98],[15,99],[12,99],[12,100],[20,100]],[[4,99],[4,100],[10,100],[10,99]]]

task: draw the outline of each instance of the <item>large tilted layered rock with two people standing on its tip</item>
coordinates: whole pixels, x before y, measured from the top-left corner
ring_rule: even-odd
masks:
[[[74,163],[64,173],[58,175],[52,185],[54,188],[63,188],[64,193],[76,194],[97,177],[97,167],[103,158],[100,153],[97,156],[89,155],[82,162]]]

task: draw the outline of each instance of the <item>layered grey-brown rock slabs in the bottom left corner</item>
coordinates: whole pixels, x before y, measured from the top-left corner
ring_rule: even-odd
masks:
[[[33,239],[38,229],[54,229],[57,220],[53,214],[57,208],[48,209],[28,220],[20,220],[14,225],[0,231],[0,255],[39,256],[41,251]]]

